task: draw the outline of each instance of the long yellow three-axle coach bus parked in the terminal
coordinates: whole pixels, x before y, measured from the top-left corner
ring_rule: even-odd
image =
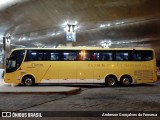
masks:
[[[4,81],[39,83],[103,83],[130,86],[157,80],[153,49],[19,48],[6,61]]]

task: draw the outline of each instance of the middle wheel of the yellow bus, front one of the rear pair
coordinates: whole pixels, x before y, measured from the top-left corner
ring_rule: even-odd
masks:
[[[105,85],[108,87],[114,87],[117,85],[117,78],[114,75],[109,75],[105,78]]]

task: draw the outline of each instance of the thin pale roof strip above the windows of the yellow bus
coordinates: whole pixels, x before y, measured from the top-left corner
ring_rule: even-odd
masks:
[[[154,50],[151,48],[103,48],[103,47],[58,47],[58,48],[16,48],[14,50]]]

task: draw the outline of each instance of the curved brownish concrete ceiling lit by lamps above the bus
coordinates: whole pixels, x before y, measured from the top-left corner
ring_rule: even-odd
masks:
[[[77,22],[74,46],[151,47],[160,59],[159,0],[6,0],[0,3],[0,45],[66,44],[65,23]],[[1,1],[0,1],[1,2]]]

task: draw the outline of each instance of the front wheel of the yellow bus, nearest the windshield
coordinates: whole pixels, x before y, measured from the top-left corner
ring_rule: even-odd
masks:
[[[24,86],[33,86],[35,85],[35,79],[31,75],[24,76],[22,79],[22,84]]]

